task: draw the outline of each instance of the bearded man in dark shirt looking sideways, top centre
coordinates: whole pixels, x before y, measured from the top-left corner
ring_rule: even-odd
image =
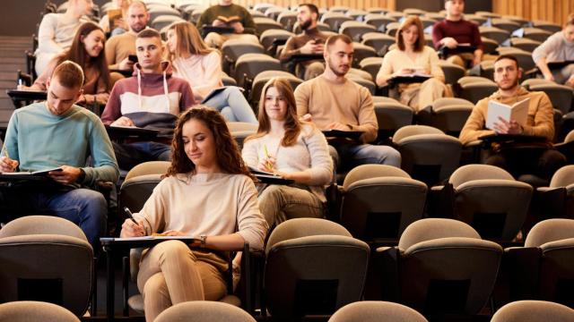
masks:
[[[321,54],[327,35],[317,30],[319,11],[315,4],[300,4],[297,8],[297,22],[303,32],[300,35],[287,39],[279,60],[287,63],[295,54]],[[297,64],[295,73],[303,80],[316,78],[325,72],[323,61],[308,61]]]

